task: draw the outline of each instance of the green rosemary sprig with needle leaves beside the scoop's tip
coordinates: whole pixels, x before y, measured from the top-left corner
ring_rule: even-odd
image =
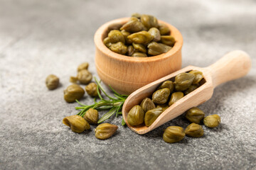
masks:
[[[115,97],[109,96],[103,89],[102,85],[100,84],[100,81],[98,81],[96,77],[94,77],[94,79],[97,84],[97,94],[100,98],[100,101],[96,101],[95,98],[94,104],[84,105],[80,103],[78,100],[76,100],[76,102],[80,105],[80,107],[75,107],[76,110],[80,110],[80,112],[77,115],[83,117],[85,115],[85,112],[89,108],[94,108],[97,111],[110,110],[105,115],[102,115],[102,118],[100,118],[100,120],[97,123],[102,123],[114,114],[116,115],[116,117],[118,117],[118,115],[122,115],[122,106],[124,105],[124,101],[127,99],[128,96],[118,94],[117,91],[112,89],[112,86],[110,86],[110,89],[113,91]],[[108,99],[103,98],[100,94],[100,91],[102,91]],[[122,119],[122,125],[125,125],[124,119]]]

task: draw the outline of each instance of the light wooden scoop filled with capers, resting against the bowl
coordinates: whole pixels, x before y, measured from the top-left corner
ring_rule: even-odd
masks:
[[[246,52],[235,50],[229,52],[227,55],[218,60],[218,62],[215,62],[209,67],[201,68],[188,66],[180,69],[177,72],[153,81],[152,83],[147,84],[146,86],[143,86],[130,94],[127,100],[124,102],[124,106],[122,108],[122,116],[124,121],[131,130],[137,132],[138,134],[144,134],[154,130],[160,125],[163,125],[164,123],[176,118],[178,115],[181,115],[188,109],[208,101],[210,97],[213,96],[213,89],[216,86],[245,76],[247,72],[249,72],[250,67],[251,60],[249,55],[247,55]],[[144,98],[150,97],[162,82],[169,79],[174,80],[174,77],[176,77],[177,74],[189,72],[191,70],[203,72],[203,84],[201,84],[198,89],[176,101],[176,103],[161,113],[161,115],[159,115],[159,117],[149,127],[146,127],[144,124],[139,126],[131,126],[127,123],[127,115],[133,106],[139,105]]]

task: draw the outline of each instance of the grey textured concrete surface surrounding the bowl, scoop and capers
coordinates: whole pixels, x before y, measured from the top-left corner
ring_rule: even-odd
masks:
[[[72,132],[62,119],[77,112],[63,89],[81,62],[94,65],[95,30],[114,18],[149,13],[184,38],[183,67],[206,67],[230,50],[252,57],[250,73],[215,89],[200,106],[221,125],[176,144],[164,128],[186,128],[183,115],[146,135],[119,126],[109,140]],[[256,169],[256,1],[0,0],[0,169]],[[61,86],[48,91],[48,74]],[[92,103],[85,96],[82,103]],[[101,113],[102,115],[103,113]]]

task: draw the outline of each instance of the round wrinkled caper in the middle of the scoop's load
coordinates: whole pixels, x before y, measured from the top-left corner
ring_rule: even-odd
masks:
[[[152,95],[152,101],[156,104],[164,104],[168,101],[170,93],[170,89],[168,88],[159,89]]]

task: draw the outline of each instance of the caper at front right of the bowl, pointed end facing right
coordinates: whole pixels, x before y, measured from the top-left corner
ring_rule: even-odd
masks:
[[[171,50],[170,46],[157,42],[150,42],[147,47],[149,55],[161,55],[162,53]]]

